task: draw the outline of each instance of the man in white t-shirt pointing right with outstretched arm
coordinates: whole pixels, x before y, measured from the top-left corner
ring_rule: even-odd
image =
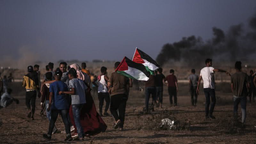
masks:
[[[199,86],[200,86],[201,79],[203,78],[204,95],[205,95],[205,118],[215,119],[215,117],[212,116],[213,109],[214,109],[214,106],[216,103],[213,73],[216,71],[216,72],[224,72],[228,76],[231,76],[231,75],[225,70],[213,68],[212,67],[212,59],[206,59],[205,64],[206,64],[206,67],[202,68],[201,72],[200,72],[200,77],[199,77],[199,80],[197,83],[196,93],[199,94]],[[212,98],[212,103],[211,103],[211,108],[209,111],[210,97]]]

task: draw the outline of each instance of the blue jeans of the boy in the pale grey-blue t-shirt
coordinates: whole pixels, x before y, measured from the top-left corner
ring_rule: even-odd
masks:
[[[80,123],[80,113],[81,113],[83,106],[84,106],[84,104],[73,104],[72,105],[73,116],[74,116],[74,120],[75,120],[79,138],[84,137],[84,129],[82,128],[82,125]]]

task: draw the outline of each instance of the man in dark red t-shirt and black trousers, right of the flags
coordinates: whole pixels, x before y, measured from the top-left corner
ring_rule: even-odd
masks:
[[[168,93],[170,96],[170,104],[172,105],[172,96],[174,97],[174,106],[177,106],[177,92],[178,92],[178,84],[177,84],[177,78],[174,76],[174,70],[170,70],[170,75],[166,76],[166,78],[163,80],[164,84],[167,81],[166,84],[168,86]]]

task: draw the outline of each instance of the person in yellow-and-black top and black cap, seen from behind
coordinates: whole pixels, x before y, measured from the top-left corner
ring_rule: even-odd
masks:
[[[36,90],[39,91],[39,83],[37,73],[34,72],[32,66],[28,66],[28,74],[23,76],[22,86],[26,88],[26,106],[28,108],[28,117],[34,120],[36,108]]]

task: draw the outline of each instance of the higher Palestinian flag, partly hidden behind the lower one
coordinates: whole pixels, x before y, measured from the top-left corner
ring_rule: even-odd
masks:
[[[146,68],[150,69],[150,73],[152,74],[154,70],[159,68],[160,66],[156,63],[155,60],[153,60],[148,54],[145,52],[142,52],[141,50],[137,49],[134,52],[132,61],[136,63],[143,64]]]

